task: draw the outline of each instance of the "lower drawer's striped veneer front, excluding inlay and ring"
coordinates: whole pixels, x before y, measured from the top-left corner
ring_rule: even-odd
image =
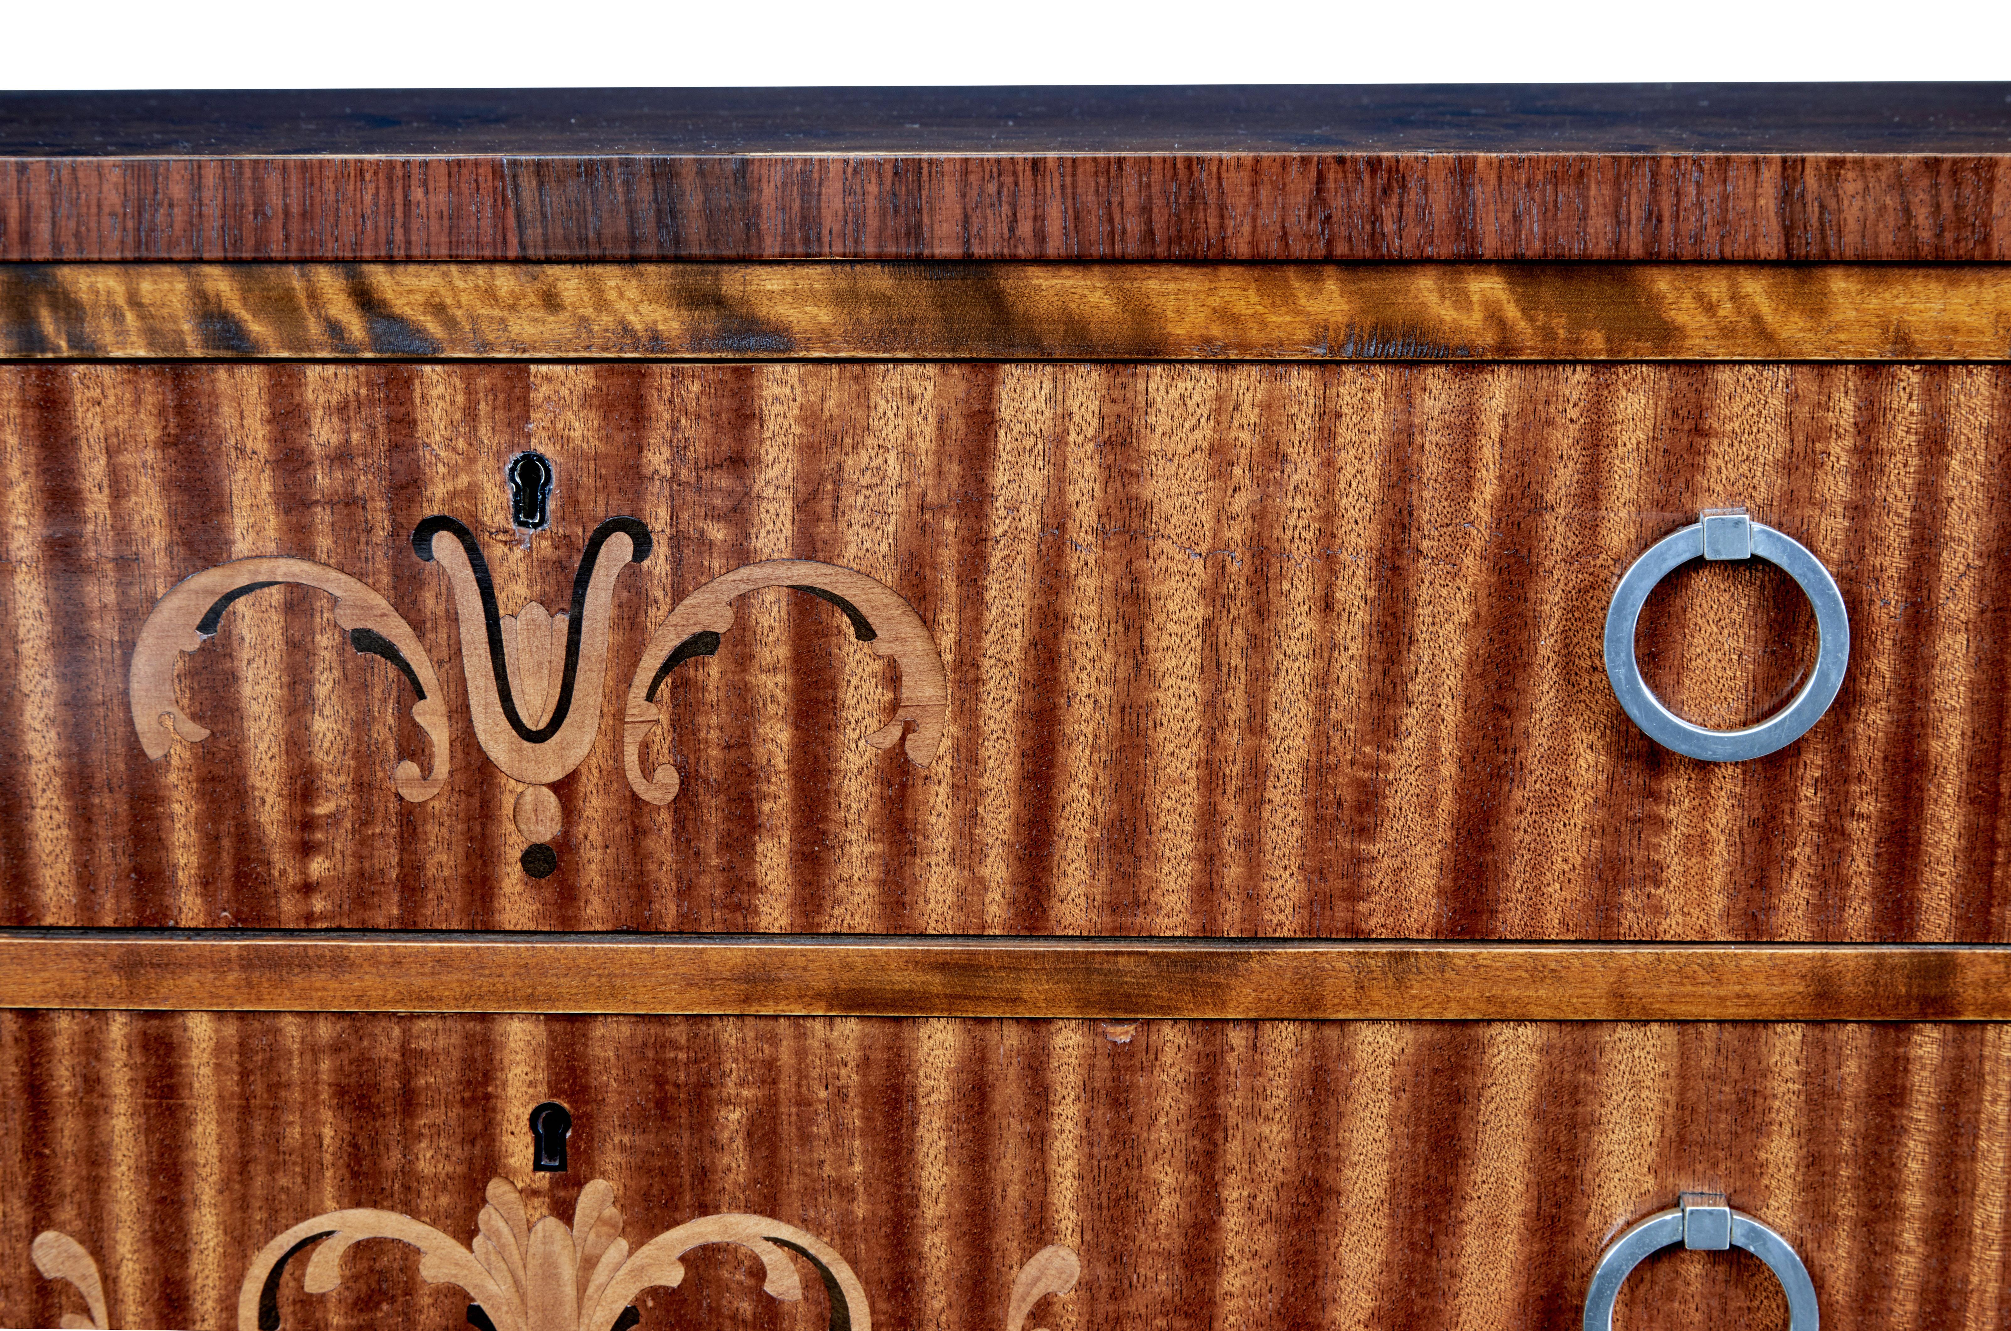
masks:
[[[1681,1188],[1794,1243],[1824,1321],[1993,1329],[2011,1289],[2003,1025],[1229,1023],[806,1017],[0,1015],[0,1323],[233,1327],[253,1255],[338,1208],[467,1245],[485,1184],[529,1218],[607,1180],[631,1245],[718,1212],[814,1234],[887,1329],[1006,1323],[1048,1245],[1100,1327],[1565,1327],[1599,1249]],[[527,1116],[571,1114],[567,1170]],[[284,1327],[456,1327],[469,1297],[366,1241]],[[734,1249],[642,1327],[822,1329]],[[1780,1327],[1754,1261],[1675,1253],[1621,1325]],[[857,1323],[855,1323],[857,1325]],[[1008,1327],[1008,1331],[1020,1331]]]

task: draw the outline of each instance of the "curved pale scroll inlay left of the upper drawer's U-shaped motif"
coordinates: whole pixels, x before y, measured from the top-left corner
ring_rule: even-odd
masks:
[[[205,633],[201,625],[219,601],[265,583],[298,583],[330,593],[336,597],[336,623],[350,631],[352,645],[360,651],[370,649],[364,647],[370,639],[358,635],[374,633],[398,651],[402,663],[416,678],[418,698],[412,702],[412,720],[432,740],[432,772],[420,774],[418,764],[400,760],[392,772],[392,784],[398,794],[412,802],[438,794],[440,786],[446,784],[448,766],[446,702],[440,698],[440,678],[432,670],[432,657],[426,655],[412,625],[384,597],[348,573],[310,559],[259,557],[219,563],[185,577],[161,597],[161,603],[147,615],[147,623],[141,625],[127,682],[133,728],[139,730],[139,742],[147,756],[153,760],[167,756],[169,732],[189,744],[201,744],[209,738],[209,730],[189,720],[181,704],[175,702],[175,661],[183,651],[195,651],[213,635],[213,629]]]

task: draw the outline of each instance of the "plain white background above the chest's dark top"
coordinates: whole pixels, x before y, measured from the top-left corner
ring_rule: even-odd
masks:
[[[2011,78],[2011,0],[0,0],[6,88]]]

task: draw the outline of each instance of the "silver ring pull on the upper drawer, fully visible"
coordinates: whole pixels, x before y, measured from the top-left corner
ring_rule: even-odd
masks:
[[[1800,583],[1802,595],[1816,607],[1816,670],[1808,674],[1808,684],[1786,708],[1758,726],[1709,730],[1685,722],[1665,708],[1661,698],[1655,698],[1647,682],[1641,680],[1641,661],[1635,657],[1641,607],[1647,605],[1655,583],[1699,555],[1703,559],[1752,559],[1758,555]],[[1820,559],[1808,553],[1808,547],[1752,521],[1746,517],[1746,509],[1705,509],[1701,521],[1651,545],[1621,577],[1621,585],[1613,591],[1613,605],[1607,609],[1607,680],[1613,682],[1613,696],[1651,740],[1705,762],[1762,758],[1800,740],[1836,702],[1836,690],[1844,686],[1844,666],[1848,663],[1850,615],[1844,611],[1844,593],[1836,589],[1836,579],[1830,577]]]

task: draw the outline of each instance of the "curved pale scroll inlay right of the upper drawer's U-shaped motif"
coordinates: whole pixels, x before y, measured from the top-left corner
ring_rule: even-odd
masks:
[[[901,672],[901,698],[893,722],[865,740],[875,748],[891,748],[907,732],[909,760],[921,768],[929,766],[943,742],[943,718],[949,712],[949,676],[929,625],[897,591],[865,573],[814,559],[770,559],[712,579],[678,601],[670,617],[650,635],[635,678],[629,682],[621,726],[621,762],[635,794],[652,804],[670,804],[678,798],[680,778],[674,766],[662,764],[652,776],[642,772],[642,742],[658,724],[670,728],[670,706],[662,690],[668,686],[664,670],[672,653],[700,633],[726,633],[734,627],[734,597],[762,587],[831,593],[871,625],[873,651],[893,657]],[[656,700],[652,692],[658,694]]]

